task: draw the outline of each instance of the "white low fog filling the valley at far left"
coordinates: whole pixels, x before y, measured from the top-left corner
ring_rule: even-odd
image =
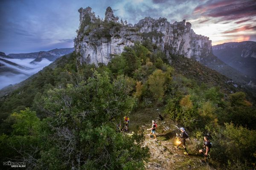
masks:
[[[20,69],[14,65],[10,65],[1,61],[1,63],[4,63],[6,65],[6,67],[12,68],[20,72],[20,74],[14,74],[12,72],[0,73],[0,82],[1,82],[0,89],[6,87],[7,85],[14,85],[16,83],[19,83],[27,79],[29,76],[32,76],[33,74],[42,70],[45,66],[51,63],[51,61],[49,61],[48,59],[42,59],[41,62],[34,62],[33,64],[31,64],[30,62],[32,62],[34,59],[6,59],[6,60],[9,60],[11,62],[14,62],[22,66],[26,66],[31,69],[28,69],[28,70]]]

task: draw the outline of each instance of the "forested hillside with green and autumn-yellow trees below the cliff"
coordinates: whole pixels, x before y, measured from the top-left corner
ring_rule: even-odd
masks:
[[[147,41],[108,65],[77,67],[76,57],[61,57],[1,99],[2,161],[25,161],[27,169],[144,169],[150,154],[140,125],[134,134],[117,133],[116,125],[126,115],[146,123],[148,109],[162,108],[191,140],[211,137],[205,169],[255,168],[255,103],[226,77],[182,56],[169,64]],[[201,147],[193,146],[195,153]]]

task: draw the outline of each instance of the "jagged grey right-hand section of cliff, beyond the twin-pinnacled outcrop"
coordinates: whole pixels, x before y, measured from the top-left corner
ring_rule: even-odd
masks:
[[[191,23],[186,20],[171,24],[166,18],[155,20],[146,17],[135,26],[140,28],[140,33],[148,33],[150,36],[146,38],[167,51],[167,56],[170,52],[200,61],[202,55],[211,52],[212,42],[209,37],[195,34]]]

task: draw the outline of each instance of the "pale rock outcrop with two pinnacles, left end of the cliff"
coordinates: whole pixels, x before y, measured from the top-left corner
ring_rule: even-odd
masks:
[[[90,11],[90,7],[81,8],[79,11]],[[85,16],[81,16],[81,15]],[[86,16],[87,15],[87,16]],[[108,64],[112,54],[121,54],[125,46],[134,45],[135,41],[142,41],[142,37],[128,26],[117,23],[118,17],[113,15],[110,7],[105,12],[105,21],[96,22],[80,21],[80,32],[74,40],[76,54],[79,55],[78,63]],[[92,16],[92,13],[80,13],[81,18]],[[84,28],[81,26],[84,25]]]

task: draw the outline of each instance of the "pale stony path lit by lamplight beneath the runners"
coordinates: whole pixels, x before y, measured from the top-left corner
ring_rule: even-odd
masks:
[[[160,124],[160,125],[159,125]],[[190,153],[185,155],[183,149],[175,149],[175,134],[177,127],[167,125],[165,122],[158,123],[157,141],[149,136],[146,127],[141,127],[145,135],[144,144],[149,147],[151,157],[145,164],[146,170],[213,170],[209,164],[202,162],[202,157]],[[188,142],[189,145],[189,142]]]

